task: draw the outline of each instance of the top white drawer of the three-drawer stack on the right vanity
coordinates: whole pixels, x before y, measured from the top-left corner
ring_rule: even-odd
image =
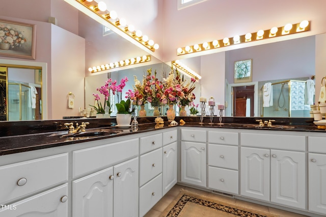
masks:
[[[208,142],[222,145],[238,145],[238,133],[209,131]]]

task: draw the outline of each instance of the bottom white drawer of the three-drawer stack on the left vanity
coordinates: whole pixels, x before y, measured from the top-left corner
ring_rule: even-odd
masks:
[[[162,174],[139,189],[139,216],[144,216],[162,197]]]

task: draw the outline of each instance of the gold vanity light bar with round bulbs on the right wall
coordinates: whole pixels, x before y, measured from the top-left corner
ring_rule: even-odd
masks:
[[[250,41],[257,41],[261,39],[274,38],[284,35],[310,31],[310,21],[304,20],[300,23],[288,23],[282,27],[273,27],[270,30],[259,30],[256,33],[247,33],[246,35],[236,35],[232,38],[224,38],[221,40],[214,40],[211,42],[204,42],[202,44],[195,44],[192,46],[179,47],[177,55],[186,55],[187,53],[195,53],[204,50],[215,49],[219,47],[226,47],[234,44],[247,43]]]

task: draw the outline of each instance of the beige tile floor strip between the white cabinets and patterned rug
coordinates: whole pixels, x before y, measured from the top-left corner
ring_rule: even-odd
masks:
[[[237,204],[243,207],[250,207],[252,209],[256,209],[256,210],[260,210],[260,211],[264,211],[264,212],[270,212],[273,214],[278,214],[280,215],[280,217],[304,217],[306,215],[300,215],[300,214],[296,214],[293,212],[288,212],[288,211],[284,211],[284,210],[280,210],[280,209],[276,209],[276,208],[271,208],[271,207],[267,207],[267,206],[263,206],[263,205],[258,205],[258,204],[254,204],[254,203],[250,203],[250,202],[246,202],[246,201],[241,201],[241,200],[237,200],[235,198],[229,198],[229,197],[225,197],[225,196],[221,196],[221,195],[216,195],[213,193],[209,193],[209,192],[204,192],[204,191],[200,191],[198,189],[194,189],[191,187],[185,187],[185,186],[181,186],[181,185],[175,185],[164,197],[162,197],[162,199],[160,199],[157,204],[155,204],[155,206],[153,206],[153,208],[151,210],[149,210],[146,215],[144,217],[158,217],[161,216],[161,213],[165,210],[165,208],[179,195],[180,193],[180,189],[183,188],[187,191],[193,192],[193,193],[198,193],[201,194],[203,196],[212,198],[212,199],[217,199],[223,202],[227,202],[227,203],[231,203],[231,204]],[[200,216],[200,215],[199,215]]]

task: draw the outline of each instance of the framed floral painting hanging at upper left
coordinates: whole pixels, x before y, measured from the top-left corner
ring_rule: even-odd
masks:
[[[0,20],[0,56],[35,60],[36,25]]]

